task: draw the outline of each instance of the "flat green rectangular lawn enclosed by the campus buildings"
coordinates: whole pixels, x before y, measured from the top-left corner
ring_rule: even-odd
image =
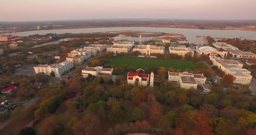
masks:
[[[115,66],[121,66],[128,64],[129,66],[135,66],[136,68],[151,68],[151,67],[173,67],[174,69],[186,69],[197,68],[196,63],[188,60],[181,59],[164,59],[164,58],[142,58],[142,57],[128,57],[128,56],[114,56],[107,64]]]

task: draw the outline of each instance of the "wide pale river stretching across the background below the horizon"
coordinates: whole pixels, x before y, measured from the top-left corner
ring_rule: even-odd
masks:
[[[141,31],[141,32],[165,32],[174,34],[183,34],[187,37],[189,42],[195,44],[203,44],[204,41],[201,38],[197,38],[197,35],[207,36],[210,35],[214,38],[242,38],[256,40],[256,31],[244,31],[244,30],[208,30],[208,29],[180,29],[180,28],[153,28],[153,27],[116,27],[116,28],[87,28],[87,29],[57,29],[57,30],[39,30],[29,31],[21,34],[20,36],[28,35],[45,35],[47,33],[92,33],[92,32],[113,32],[113,31]],[[123,37],[125,39],[125,37]],[[131,37],[131,40],[135,38]],[[138,40],[138,38],[136,38]]]

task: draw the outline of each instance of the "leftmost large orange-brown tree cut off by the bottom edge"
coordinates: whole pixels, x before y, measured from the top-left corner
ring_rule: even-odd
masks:
[[[46,118],[39,128],[39,135],[59,135],[62,131],[62,125],[58,122],[56,116]]]

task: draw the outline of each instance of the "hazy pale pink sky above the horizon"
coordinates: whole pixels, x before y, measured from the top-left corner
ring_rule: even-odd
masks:
[[[0,0],[0,21],[256,19],[256,0]]]

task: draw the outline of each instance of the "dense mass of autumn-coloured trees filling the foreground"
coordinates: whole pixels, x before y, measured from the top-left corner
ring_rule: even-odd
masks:
[[[35,116],[43,121],[38,133],[253,135],[256,131],[256,96],[234,87],[225,91],[213,87],[206,95],[175,88],[171,82],[142,87],[127,84],[125,77],[117,80],[117,84],[106,84],[96,77],[71,78],[67,84],[40,90],[43,102]],[[64,116],[69,118],[54,115],[59,101],[64,101],[61,95],[68,91],[77,93],[76,98],[65,102],[69,110]],[[75,110],[82,113],[72,113]]]

